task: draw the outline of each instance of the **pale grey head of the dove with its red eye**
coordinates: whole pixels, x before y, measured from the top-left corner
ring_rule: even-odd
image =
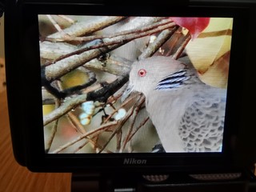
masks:
[[[152,57],[134,62],[130,70],[129,86],[125,95],[132,91],[142,92],[147,96],[158,82],[167,75],[182,70],[185,65],[171,57]]]

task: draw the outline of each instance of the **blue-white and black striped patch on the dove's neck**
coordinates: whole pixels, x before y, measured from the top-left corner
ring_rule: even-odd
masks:
[[[156,86],[156,90],[170,90],[175,89],[184,84],[186,80],[188,80],[190,76],[187,75],[186,70],[178,70],[174,74],[170,74],[163,78],[158,85]]]

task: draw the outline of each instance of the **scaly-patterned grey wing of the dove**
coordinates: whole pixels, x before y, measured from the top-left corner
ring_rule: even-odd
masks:
[[[194,95],[194,102],[186,108],[178,127],[186,151],[222,150],[226,99],[221,95],[205,92]]]

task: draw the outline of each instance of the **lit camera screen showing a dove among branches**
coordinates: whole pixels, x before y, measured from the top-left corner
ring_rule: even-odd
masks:
[[[233,18],[40,14],[38,24],[46,153],[222,152]]]

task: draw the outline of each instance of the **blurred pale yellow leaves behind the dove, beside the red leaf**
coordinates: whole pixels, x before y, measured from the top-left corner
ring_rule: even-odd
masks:
[[[186,46],[202,81],[211,86],[227,86],[232,26],[233,18],[210,18],[209,26]]]

